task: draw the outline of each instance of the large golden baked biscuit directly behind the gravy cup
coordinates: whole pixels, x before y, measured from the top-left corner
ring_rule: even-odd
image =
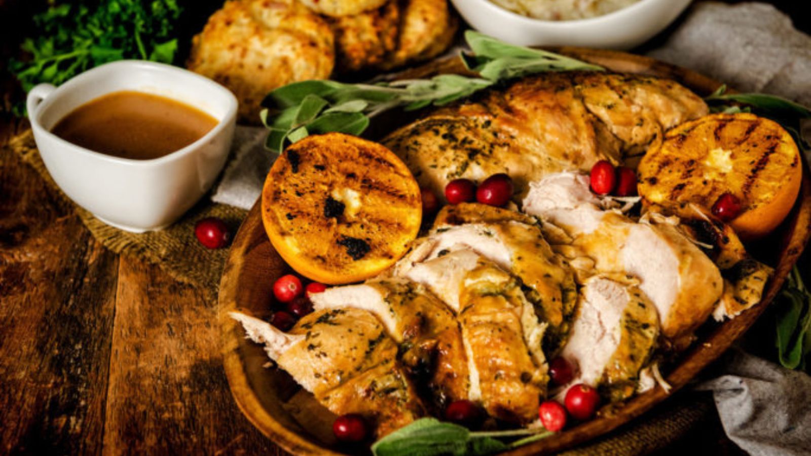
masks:
[[[298,1],[234,0],[194,37],[187,67],[234,92],[241,122],[259,123],[268,92],[327,79],[334,64],[333,31]]]

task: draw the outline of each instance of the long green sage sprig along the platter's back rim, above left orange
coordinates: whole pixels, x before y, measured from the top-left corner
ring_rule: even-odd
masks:
[[[468,97],[502,80],[542,71],[602,71],[602,67],[551,52],[508,45],[478,32],[465,39],[473,54],[462,54],[468,69],[481,77],[437,75],[428,80],[377,84],[343,84],[308,80],[287,84],[262,101],[262,123],[268,127],[265,147],[281,152],[311,134],[337,131],[360,135],[370,118],[386,110],[418,110]]]

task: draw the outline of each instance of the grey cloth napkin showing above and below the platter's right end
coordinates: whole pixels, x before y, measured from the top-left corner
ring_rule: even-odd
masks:
[[[649,55],[811,105],[811,37],[771,5],[698,2]],[[811,376],[734,349],[718,367],[723,375],[697,389],[713,392],[732,441],[750,454],[811,454]]]

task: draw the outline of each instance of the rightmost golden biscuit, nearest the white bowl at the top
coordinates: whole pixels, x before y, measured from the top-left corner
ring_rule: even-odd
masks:
[[[397,49],[380,65],[384,70],[436,57],[448,49],[457,31],[447,0],[405,0],[400,7]]]

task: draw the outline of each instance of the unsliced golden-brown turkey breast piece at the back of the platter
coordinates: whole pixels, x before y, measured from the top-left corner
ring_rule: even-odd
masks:
[[[436,195],[453,179],[507,173],[522,196],[546,174],[619,163],[706,112],[700,97],[672,80],[547,73],[437,110],[383,142]]]

